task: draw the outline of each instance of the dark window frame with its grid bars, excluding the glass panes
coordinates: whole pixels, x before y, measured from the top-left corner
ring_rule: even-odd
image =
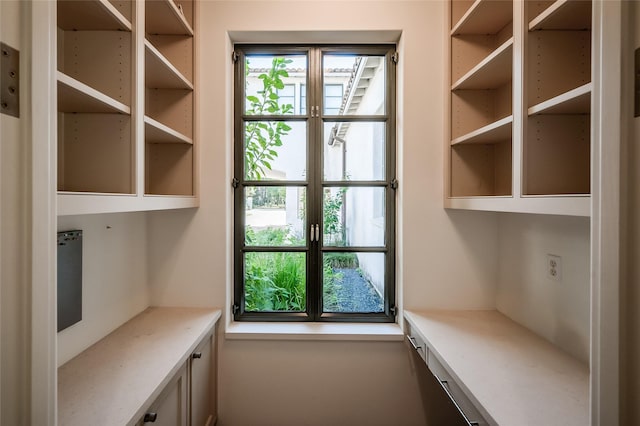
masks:
[[[234,319],[277,321],[366,321],[389,322],[394,319],[390,308],[395,306],[395,190],[391,182],[395,179],[395,65],[391,61],[390,46],[342,46],[289,47],[251,46],[239,48],[239,63],[235,76],[235,141],[234,175],[237,182],[234,195],[234,301],[240,311]],[[265,55],[290,55],[308,52],[305,115],[247,115],[244,113],[246,99],[244,64],[246,53]],[[383,56],[386,53],[385,113],[381,115],[325,115],[323,52],[329,54],[355,54]],[[296,86],[297,87],[297,86]],[[298,102],[294,102],[297,105]],[[297,108],[297,107],[296,107]],[[302,109],[302,108],[301,108]],[[306,181],[245,180],[244,175],[244,129],[245,123],[255,121],[307,121],[307,176]],[[324,181],[323,178],[323,132],[325,123],[377,122],[385,123],[385,179],[377,181]],[[378,139],[379,140],[379,139]],[[258,176],[259,177],[259,176]],[[248,186],[298,186],[306,188],[306,236],[305,246],[248,246],[245,245],[245,193]],[[384,246],[333,247],[324,246],[323,199],[325,188],[331,187],[382,187],[385,188],[385,238]],[[310,241],[312,225],[320,227],[320,241]],[[244,300],[244,255],[259,252],[307,253],[306,313],[300,312],[245,312]],[[339,252],[382,253],[385,256],[384,311],[382,313],[323,313],[323,254]]]

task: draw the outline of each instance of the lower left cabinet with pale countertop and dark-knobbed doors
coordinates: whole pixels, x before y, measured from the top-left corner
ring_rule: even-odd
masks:
[[[58,424],[211,426],[211,308],[148,308],[58,369]]]

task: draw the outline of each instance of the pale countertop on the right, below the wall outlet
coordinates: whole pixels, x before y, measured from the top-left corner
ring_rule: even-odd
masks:
[[[497,311],[404,313],[490,424],[589,424],[589,368]]]

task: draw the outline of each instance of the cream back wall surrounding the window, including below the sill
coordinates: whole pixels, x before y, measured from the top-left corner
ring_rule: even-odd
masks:
[[[442,208],[445,3],[206,1],[200,6],[201,206],[195,211],[150,214],[151,303],[222,308],[231,303],[227,291],[232,260],[233,68],[228,32],[248,41],[253,36],[259,41],[304,42],[353,41],[362,34],[358,30],[401,30],[399,303],[413,309],[492,308],[497,276],[495,215]],[[289,32],[270,32],[276,30]],[[313,30],[317,32],[309,32]],[[345,35],[349,30],[354,33]],[[343,33],[336,36],[331,31]],[[340,424],[332,421],[336,412],[351,416],[344,424],[422,422],[416,383],[400,342],[285,343],[222,337],[219,350],[223,426],[256,424],[260,410],[278,425]],[[310,357],[316,361],[312,368],[304,363]],[[379,380],[372,371],[378,372]],[[267,391],[266,384],[277,387]],[[320,386],[314,389],[314,384]],[[333,388],[328,389],[330,384]],[[352,399],[354,411],[344,413],[345,401]],[[398,423],[403,409],[403,422]],[[309,410],[311,416],[304,417]]]

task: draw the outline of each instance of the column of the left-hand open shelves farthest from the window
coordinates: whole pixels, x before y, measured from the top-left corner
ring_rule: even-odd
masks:
[[[58,191],[135,191],[125,16],[108,1],[58,3]]]

